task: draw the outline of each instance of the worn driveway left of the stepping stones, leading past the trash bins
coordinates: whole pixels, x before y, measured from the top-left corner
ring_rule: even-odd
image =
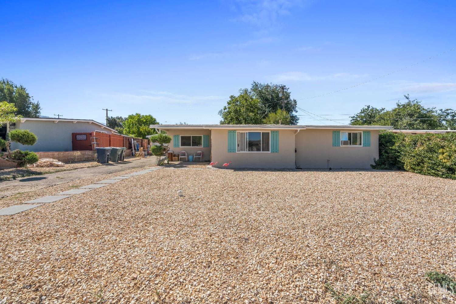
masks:
[[[63,172],[0,181],[0,198],[19,192],[28,192],[46,188],[59,183],[67,183],[77,179],[90,178],[93,176],[115,173],[128,169],[154,166],[156,162],[156,157],[149,156],[125,163],[109,163],[109,165],[98,167],[79,168]]]

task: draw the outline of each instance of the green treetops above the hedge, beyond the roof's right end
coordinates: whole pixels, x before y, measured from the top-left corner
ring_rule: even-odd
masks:
[[[380,125],[393,126],[394,129],[406,130],[440,130],[446,125],[454,124],[455,112],[451,109],[440,110],[425,108],[421,101],[411,100],[409,95],[404,95],[405,102],[396,103],[391,110],[377,109],[370,105],[365,106],[356,115],[351,117],[352,125]]]

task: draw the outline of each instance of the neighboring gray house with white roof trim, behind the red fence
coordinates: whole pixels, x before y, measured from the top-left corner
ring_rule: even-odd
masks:
[[[19,121],[0,125],[2,138],[6,132],[12,129],[33,132],[38,137],[38,141],[33,146],[23,146],[17,142],[11,143],[11,150],[21,149],[33,152],[72,151],[72,133],[102,131],[111,134],[116,132],[97,121],[86,119],[24,117]]]

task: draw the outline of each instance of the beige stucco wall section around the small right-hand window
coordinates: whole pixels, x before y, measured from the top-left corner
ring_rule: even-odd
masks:
[[[378,131],[370,130],[370,147],[332,147],[332,131],[338,130],[301,130],[296,135],[296,164],[301,168],[327,168],[329,159],[331,168],[371,168],[373,158],[378,158]]]

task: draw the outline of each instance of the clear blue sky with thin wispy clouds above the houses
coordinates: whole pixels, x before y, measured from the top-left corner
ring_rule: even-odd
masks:
[[[51,117],[104,122],[108,107],[109,115],[152,114],[164,124],[218,123],[229,95],[254,80],[285,84],[299,107],[333,120],[364,105],[390,108],[403,94],[426,107],[456,108],[456,49],[428,59],[456,47],[454,1],[1,7],[0,77],[23,84]],[[321,124],[300,117],[300,124]]]

